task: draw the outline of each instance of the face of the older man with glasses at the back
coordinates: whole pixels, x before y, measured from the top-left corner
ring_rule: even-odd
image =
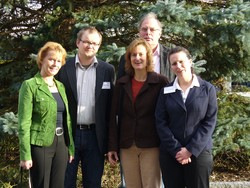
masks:
[[[157,20],[146,18],[141,24],[139,35],[148,42],[152,50],[155,50],[161,37],[161,28]]]

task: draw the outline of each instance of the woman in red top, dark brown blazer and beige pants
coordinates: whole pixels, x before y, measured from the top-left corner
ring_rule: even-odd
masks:
[[[161,186],[154,112],[158,94],[168,79],[155,73],[153,67],[150,46],[137,38],[126,52],[127,75],[115,85],[108,158],[114,165],[120,153],[127,188]]]

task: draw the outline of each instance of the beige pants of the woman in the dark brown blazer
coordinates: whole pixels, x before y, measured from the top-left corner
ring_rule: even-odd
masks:
[[[121,149],[126,188],[160,188],[159,148]]]

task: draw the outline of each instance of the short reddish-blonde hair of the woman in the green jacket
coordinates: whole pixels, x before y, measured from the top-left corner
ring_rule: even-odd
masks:
[[[39,69],[41,69],[42,62],[44,58],[46,57],[46,55],[48,54],[48,52],[52,50],[62,54],[62,65],[65,64],[66,56],[67,56],[66,50],[62,47],[61,44],[50,41],[50,42],[47,42],[42,48],[40,48],[37,54],[36,63]]]

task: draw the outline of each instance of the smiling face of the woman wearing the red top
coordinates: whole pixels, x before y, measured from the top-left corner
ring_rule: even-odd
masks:
[[[132,50],[130,61],[132,67],[136,70],[146,70],[147,67],[147,50],[145,46],[138,45]]]

